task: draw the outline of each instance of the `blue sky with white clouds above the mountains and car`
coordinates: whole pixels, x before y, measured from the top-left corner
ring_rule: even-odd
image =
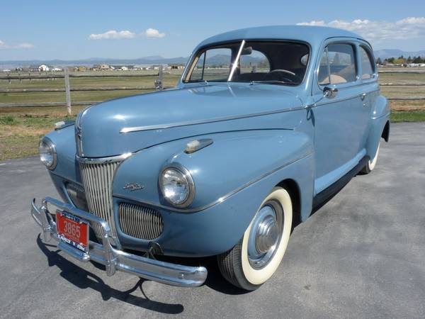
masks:
[[[186,57],[201,40],[249,26],[354,30],[375,50],[425,50],[425,1],[8,1],[0,60]]]

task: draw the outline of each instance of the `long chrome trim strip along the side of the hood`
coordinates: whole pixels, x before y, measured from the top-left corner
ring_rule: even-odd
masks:
[[[291,111],[300,111],[300,110],[304,110],[304,109],[305,109],[305,106],[296,106],[296,107],[293,107],[293,108],[282,108],[280,110],[275,110],[275,111],[249,113],[249,114],[239,115],[239,116],[225,116],[225,117],[222,117],[222,118],[212,118],[212,119],[208,119],[208,120],[186,121],[186,122],[179,122],[179,123],[159,124],[159,125],[135,126],[135,127],[132,127],[132,128],[122,128],[120,130],[120,133],[140,132],[142,130],[162,130],[164,128],[179,128],[181,126],[239,120],[241,118],[254,118],[254,117],[257,117],[257,116],[266,116],[266,115],[285,113],[285,112],[291,112]]]

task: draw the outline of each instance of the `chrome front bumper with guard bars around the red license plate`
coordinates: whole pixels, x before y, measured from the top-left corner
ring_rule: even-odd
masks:
[[[57,236],[56,223],[47,210],[47,203],[56,206],[61,211],[66,211],[85,220],[89,220],[90,223],[101,225],[104,234],[102,244],[90,241],[89,251],[83,252],[60,240]],[[31,215],[42,228],[44,242],[54,240],[60,250],[81,262],[93,260],[94,262],[105,265],[108,276],[112,276],[117,270],[120,270],[145,279],[158,281],[162,284],[191,287],[202,285],[207,277],[207,269],[205,267],[188,267],[180,264],[171,264],[169,262],[141,257],[136,254],[129,254],[120,250],[120,245],[113,240],[111,228],[105,220],[86,211],[74,208],[67,203],[57,201],[55,198],[46,197],[42,200],[42,206],[40,207],[35,204],[35,199],[33,199],[31,202]]]

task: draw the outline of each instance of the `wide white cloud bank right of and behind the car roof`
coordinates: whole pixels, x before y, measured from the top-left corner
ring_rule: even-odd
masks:
[[[398,21],[370,21],[356,19],[353,21],[323,20],[297,23],[300,26],[329,26],[341,28],[363,35],[367,40],[404,40],[425,35],[425,17],[408,17]]]

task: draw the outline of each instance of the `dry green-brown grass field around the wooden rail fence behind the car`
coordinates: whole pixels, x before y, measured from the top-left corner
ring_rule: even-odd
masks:
[[[83,72],[77,72],[81,75]],[[132,74],[132,77],[72,77],[70,86],[79,88],[126,88],[125,90],[108,91],[72,91],[72,102],[103,101],[119,96],[152,91],[157,75],[153,71],[123,72],[116,74]],[[99,74],[99,72],[87,72]],[[4,74],[3,74],[4,75]],[[149,76],[150,75],[150,76]],[[181,75],[180,70],[164,72],[164,86],[174,86]],[[380,74],[382,94],[391,98],[394,96],[425,96],[425,73],[422,74]],[[385,84],[416,84],[416,86],[387,86]],[[424,84],[418,86],[417,84]],[[130,88],[130,89],[129,89]],[[137,89],[132,89],[137,88]],[[13,92],[23,89],[64,89],[64,79],[0,79],[1,103],[46,103],[64,102],[63,91],[54,92]],[[425,121],[425,100],[391,101],[392,121]],[[73,116],[84,106],[72,106]],[[64,106],[56,107],[0,107],[0,160],[35,155],[40,137],[52,130],[54,123],[67,118]]]

